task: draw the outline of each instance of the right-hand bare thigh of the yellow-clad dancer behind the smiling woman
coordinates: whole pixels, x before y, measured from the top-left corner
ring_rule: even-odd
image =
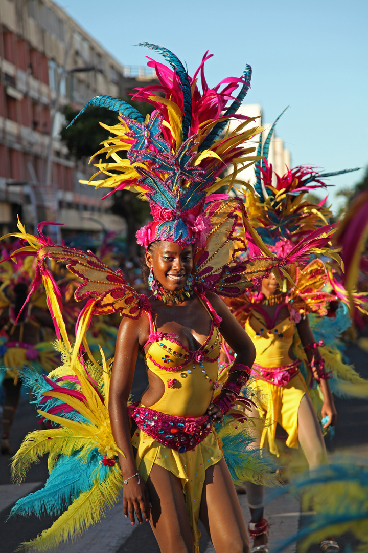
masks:
[[[303,395],[298,409],[298,441],[310,469],[327,463],[321,426],[308,394]]]

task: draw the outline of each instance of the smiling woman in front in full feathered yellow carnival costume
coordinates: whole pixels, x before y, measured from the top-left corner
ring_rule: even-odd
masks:
[[[27,234],[19,223],[17,237],[29,243],[25,250],[38,259],[34,286],[44,281],[61,338],[63,365],[50,378],[35,380],[31,373],[27,377],[33,382],[40,414],[59,426],[30,434],[15,456],[13,474],[22,479],[29,463],[49,452],[50,478],[44,489],[19,500],[12,513],[42,510],[54,515],[67,505],[49,530],[27,544],[52,549],[99,520],[106,506],[116,502],[122,486],[126,517],[132,524],[136,518],[140,523],[149,520],[161,551],[198,551],[199,518],[216,551],[248,551],[222,450],[228,455],[232,444],[229,466],[236,482],[247,478],[274,482],[275,475],[265,457],[249,455],[246,447],[242,450],[242,441],[248,444],[249,439],[239,439],[236,428],[244,415],[232,405],[238,401],[249,405],[239,392],[247,382],[254,347],[217,294],[243,294],[270,270],[282,271],[288,263],[308,257],[314,242],[298,244],[278,258],[250,227],[242,200],[214,194],[224,184],[237,183],[235,165],[231,175],[220,178],[224,165],[236,159],[246,166],[258,159],[249,140],[261,129],[252,126],[253,119],[236,114],[249,88],[250,67],[240,79],[230,77],[211,89],[203,72],[210,56],[189,77],[170,51],[146,46],[171,66],[150,60],[160,85],[142,88],[134,96],[153,104],[151,116],[144,118],[110,97],[94,98],[87,106],[120,113],[120,122],[106,127],[115,138],[106,140],[98,152],[110,158],[97,163],[97,175],[106,178],[89,184],[113,189],[108,195],[125,187],[150,202],[153,221],[137,232],[137,239],[145,248],[152,296],[138,294],[119,269],[111,270],[92,252],[55,246],[41,232],[37,237]],[[197,86],[199,74],[202,92]],[[241,90],[234,97],[238,85]],[[242,123],[222,137],[230,117]],[[239,224],[246,226],[246,238],[235,236]],[[318,244],[327,245],[329,237],[329,232],[321,231]],[[249,244],[257,255],[244,262],[241,258]],[[75,297],[87,302],[78,318],[73,348],[47,259],[65,263],[83,280]],[[112,312],[124,319],[110,383],[112,360],[106,361],[102,350],[102,364],[95,362],[86,332],[93,315]],[[237,362],[222,378],[222,387],[217,379],[221,334],[237,352]],[[129,405],[140,350],[150,385],[140,402]],[[233,418],[230,422],[227,418],[222,429],[221,446],[214,423],[228,415]]]

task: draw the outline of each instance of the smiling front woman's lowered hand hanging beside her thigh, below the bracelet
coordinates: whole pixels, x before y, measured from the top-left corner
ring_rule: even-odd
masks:
[[[138,478],[131,478],[124,486],[122,491],[122,510],[125,518],[130,518],[132,525],[135,524],[135,516],[138,523],[143,523],[143,518],[146,522],[150,521],[150,497],[146,483],[140,478],[141,483],[138,484]]]

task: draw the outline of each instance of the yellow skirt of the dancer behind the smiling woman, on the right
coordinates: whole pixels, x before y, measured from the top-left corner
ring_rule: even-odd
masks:
[[[274,455],[280,455],[275,443],[276,422],[287,432],[287,447],[298,444],[298,409],[304,394],[309,394],[305,379],[300,373],[291,378],[285,386],[275,386],[260,378],[252,378],[248,387],[260,399],[257,409],[264,419],[260,447],[268,447]]]

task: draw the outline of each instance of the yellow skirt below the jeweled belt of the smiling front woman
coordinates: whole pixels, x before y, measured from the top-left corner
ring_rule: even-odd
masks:
[[[199,551],[200,530],[198,526],[202,489],[207,468],[222,458],[221,440],[212,429],[210,434],[195,447],[194,451],[179,453],[160,444],[140,429],[132,436],[132,445],[137,449],[136,463],[142,478],[147,481],[152,466],[159,465],[180,478],[185,496],[186,512],[193,533],[195,551]]]

